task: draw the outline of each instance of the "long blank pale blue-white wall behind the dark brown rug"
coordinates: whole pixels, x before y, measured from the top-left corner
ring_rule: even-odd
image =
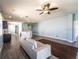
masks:
[[[73,41],[73,15],[63,15],[48,18],[33,27],[33,33],[51,38],[58,38],[69,42]]]

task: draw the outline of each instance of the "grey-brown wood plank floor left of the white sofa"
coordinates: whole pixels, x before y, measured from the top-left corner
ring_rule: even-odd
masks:
[[[12,35],[11,43],[3,45],[0,59],[30,59],[20,47],[18,39]]]

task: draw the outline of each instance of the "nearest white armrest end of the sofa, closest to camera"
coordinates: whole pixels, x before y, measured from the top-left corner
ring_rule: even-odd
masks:
[[[37,56],[37,59],[45,59],[51,56],[51,46],[48,44],[45,44],[42,47],[38,47],[34,51]]]

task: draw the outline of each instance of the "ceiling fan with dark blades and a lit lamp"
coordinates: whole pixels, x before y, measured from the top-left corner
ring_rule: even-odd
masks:
[[[40,15],[41,15],[41,14],[44,14],[44,13],[46,13],[46,14],[51,14],[50,11],[52,11],[52,10],[57,10],[57,9],[58,9],[58,7],[50,8],[50,3],[46,3],[46,4],[44,4],[44,6],[42,7],[42,9],[36,9],[36,11],[42,11],[42,12],[40,13]]]

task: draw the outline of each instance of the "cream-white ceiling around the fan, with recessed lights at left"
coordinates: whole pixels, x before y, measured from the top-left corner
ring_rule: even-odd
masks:
[[[42,20],[42,18],[50,16],[47,14],[39,15],[40,12],[36,11],[36,9],[41,8],[40,5],[45,1],[46,0],[0,0],[0,7],[3,11],[3,16],[9,20],[26,22],[31,20],[31,22],[37,22]],[[52,17],[60,14],[75,13],[78,10],[77,0],[50,0],[49,2],[51,2],[50,7],[59,7],[58,10],[51,11]],[[11,18],[8,18],[8,16],[11,16]]]

